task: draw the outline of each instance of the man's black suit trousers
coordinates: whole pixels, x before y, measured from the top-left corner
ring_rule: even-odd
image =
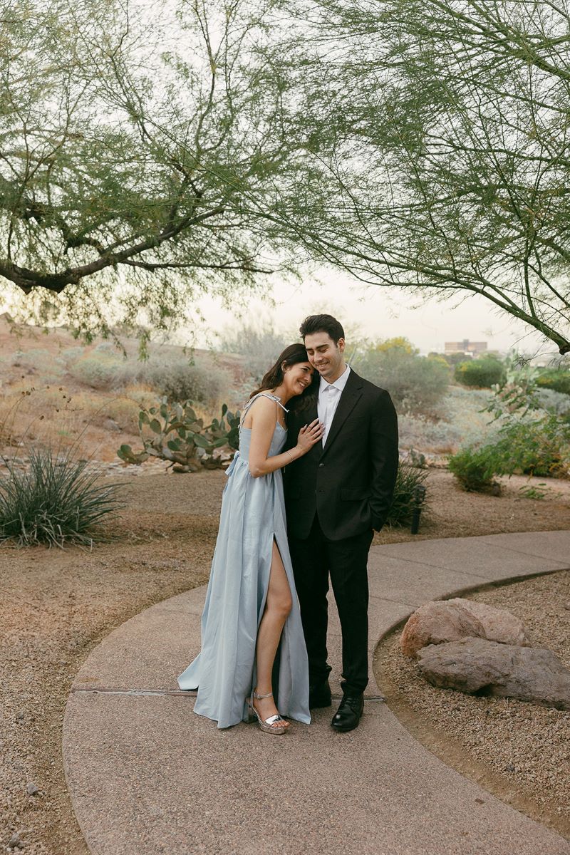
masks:
[[[329,574],[343,634],[343,692],[358,694],[368,682],[368,550],[373,531],[328,540],[318,516],[306,540],[289,539],[303,632],[309,654],[309,683],[325,681]]]

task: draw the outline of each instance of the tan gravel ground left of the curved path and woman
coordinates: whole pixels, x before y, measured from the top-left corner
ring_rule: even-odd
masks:
[[[88,852],[62,769],[69,689],[115,627],[207,581],[225,477],[204,475],[130,479],[115,540],[91,552],[0,550],[0,851],[16,833],[29,855]]]

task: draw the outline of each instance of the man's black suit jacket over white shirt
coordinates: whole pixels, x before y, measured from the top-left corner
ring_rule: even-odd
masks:
[[[297,445],[303,425],[317,418],[318,384],[287,417],[287,444]],[[294,404],[291,401],[291,404]],[[287,528],[304,540],[319,516],[329,540],[344,540],[384,525],[398,466],[397,416],[385,389],[350,370],[325,447],[318,442],[284,471]]]

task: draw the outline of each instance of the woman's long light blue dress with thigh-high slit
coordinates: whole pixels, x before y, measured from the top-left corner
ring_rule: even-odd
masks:
[[[260,394],[279,404],[274,395]],[[248,402],[244,415],[258,397]],[[268,457],[279,454],[286,436],[277,422]],[[309,724],[309,664],[287,545],[283,479],[280,469],[260,478],[250,475],[250,439],[250,428],[240,428],[239,451],[226,471],[202,614],[202,650],[179,675],[178,683],[181,689],[198,690],[194,711],[214,719],[219,728],[247,719],[246,699],[256,685],[257,628],[267,598],[274,538],[293,601],[281,635],[276,702],[281,715]]]

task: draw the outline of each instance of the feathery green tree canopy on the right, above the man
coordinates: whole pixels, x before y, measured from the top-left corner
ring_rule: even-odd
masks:
[[[480,294],[569,352],[567,0],[297,0],[282,21],[311,167],[274,221],[360,280]]]

